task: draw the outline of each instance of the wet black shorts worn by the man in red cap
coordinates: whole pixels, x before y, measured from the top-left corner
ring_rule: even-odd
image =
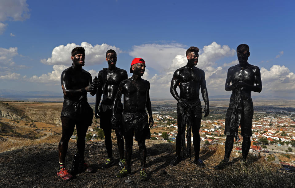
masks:
[[[148,126],[148,114],[146,111],[136,112],[136,113],[122,113],[122,124],[124,127],[124,132],[128,136],[135,136],[136,141],[141,141],[145,139],[150,139],[150,128]],[[132,134],[130,134],[132,132]]]

